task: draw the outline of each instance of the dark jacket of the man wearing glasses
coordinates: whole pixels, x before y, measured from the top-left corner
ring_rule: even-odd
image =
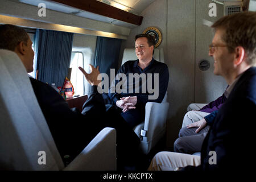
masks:
[[[214,119],[201,149],[201,166],[188,166],[184,170],[249,170],[249,166],[255,165],[255,114],[256,68],[253,67],[239,78]],[[216,152],[217,164],[209,164],[209,159],[213,161],[210,151]]]

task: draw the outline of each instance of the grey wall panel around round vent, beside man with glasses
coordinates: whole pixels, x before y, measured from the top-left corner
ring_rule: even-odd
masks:
[[[196,64],[195,64],[195,102],[209,103],[220,97],[224,92],[227,84],[223,77],[215,76],[213,74],[213,57],[208,55],[209,44],[212,43],[214,30],[206,26],[203,21],[216,22],[217,19],[223,16],[223,5],[217,5],[217,16],[210,17],[208,11],[210,10],[210,0],[196,1]],[[208,60],[210,68],[207,71],[199,69],[201,60]]]

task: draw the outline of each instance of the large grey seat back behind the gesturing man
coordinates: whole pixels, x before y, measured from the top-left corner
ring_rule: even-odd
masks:
[[[0,168],[64,168],[26,68],[13,51],[0,49],[0,85]],[[46,165],[39,165],[39,151],[46,152]]]

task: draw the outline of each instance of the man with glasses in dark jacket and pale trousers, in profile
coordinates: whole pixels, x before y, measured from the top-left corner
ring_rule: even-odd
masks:
[[[209,55],[214,74],[230,85],[229,97],[210,126],[201,157],[160,152],[152,159],[151,170],[249,171],[255,165],[251,122],[256,111],[256,12],[224,16],[212,27]]]

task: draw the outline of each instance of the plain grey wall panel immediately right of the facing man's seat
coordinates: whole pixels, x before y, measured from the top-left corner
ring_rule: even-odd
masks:
[[[168,1],[167,65],[170,72],[167,147],[178,136],[187,105],[194,100],[195,1]]]

